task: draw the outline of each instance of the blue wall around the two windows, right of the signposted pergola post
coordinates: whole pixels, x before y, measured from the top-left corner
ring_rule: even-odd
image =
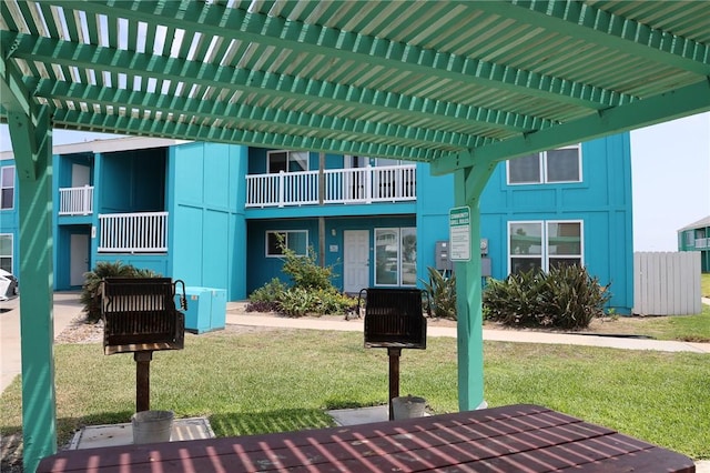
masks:
[[[582,182],[508,185],[500,163],[481,195],[481,238],[488,239],[493,275],[508,272],[508,221],[581,220],[589,273],[611,283],[609,306],[633,306],[633,242],[629,134],[582,144]]]

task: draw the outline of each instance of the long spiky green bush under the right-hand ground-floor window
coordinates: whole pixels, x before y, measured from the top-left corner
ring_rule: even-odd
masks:
[[[517,326],[575,330],[604,315],[609,284],[602,286],[585,268],[561,266],[548,273],[529,271],[490,280],[484,290],[487,320]]]

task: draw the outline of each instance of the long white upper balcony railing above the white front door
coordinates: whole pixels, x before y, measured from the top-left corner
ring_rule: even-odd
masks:
[[[416,164],[246,177],[247,208],[406,202],[416,198]]]

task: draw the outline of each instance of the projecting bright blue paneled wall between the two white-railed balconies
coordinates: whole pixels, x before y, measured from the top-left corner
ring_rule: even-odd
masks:
[[[169,161],[172,276],[244,299],[246,148],[182,144]]]

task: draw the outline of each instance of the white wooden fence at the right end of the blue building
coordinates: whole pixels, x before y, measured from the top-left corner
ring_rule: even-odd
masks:
[[[690,315],[700,312],[700,252],[633,253],[635,314]]]

